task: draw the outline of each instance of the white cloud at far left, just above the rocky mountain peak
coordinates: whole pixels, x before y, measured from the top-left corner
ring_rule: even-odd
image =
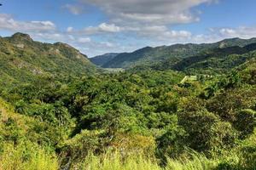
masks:
[[[0,14],[0,29],[7,31],[54,31],[55,24],[45,21],[17,21],[9,14]]]

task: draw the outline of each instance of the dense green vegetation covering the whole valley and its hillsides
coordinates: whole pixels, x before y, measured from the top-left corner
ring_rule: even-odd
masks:
[[[109,71],[61,42],[1,37],[0,169],[256,169],[252,40],[143,48],[129,59],[165,59]]]

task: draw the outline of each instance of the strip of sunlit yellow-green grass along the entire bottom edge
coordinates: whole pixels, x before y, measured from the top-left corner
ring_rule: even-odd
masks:
[[[82,161],[69,161],[61,165],[61,158],[54,152],[42,149],[35,144],[5,144],[0,156],[1,170],[203,170],[203,169],[255,169],[255,160],[242,160],[242,156],[232,155],[209,160],[206,156],[193,153],[186,158],[167,159],[166,166],[160,167],[155,158],[142,154],[123,156],[119,152],[101,156],[89,154]],[[246,159],[248,161],[248,159]]]

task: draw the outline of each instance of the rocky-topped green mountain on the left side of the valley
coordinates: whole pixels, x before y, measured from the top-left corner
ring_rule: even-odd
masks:
[[[23,33],[0,37],[1,85],[36,79],[81,77],[96,71],[86,55],[66,43],[36,42]]]

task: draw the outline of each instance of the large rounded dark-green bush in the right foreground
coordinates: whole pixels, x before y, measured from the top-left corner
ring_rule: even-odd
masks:
[[[222,150],[235,144],[236,133],[230,123],[221,122],[211,112],[181,112],[179,125],[188,133],[185,144],[193,150],[209,153],[211,150]]]

